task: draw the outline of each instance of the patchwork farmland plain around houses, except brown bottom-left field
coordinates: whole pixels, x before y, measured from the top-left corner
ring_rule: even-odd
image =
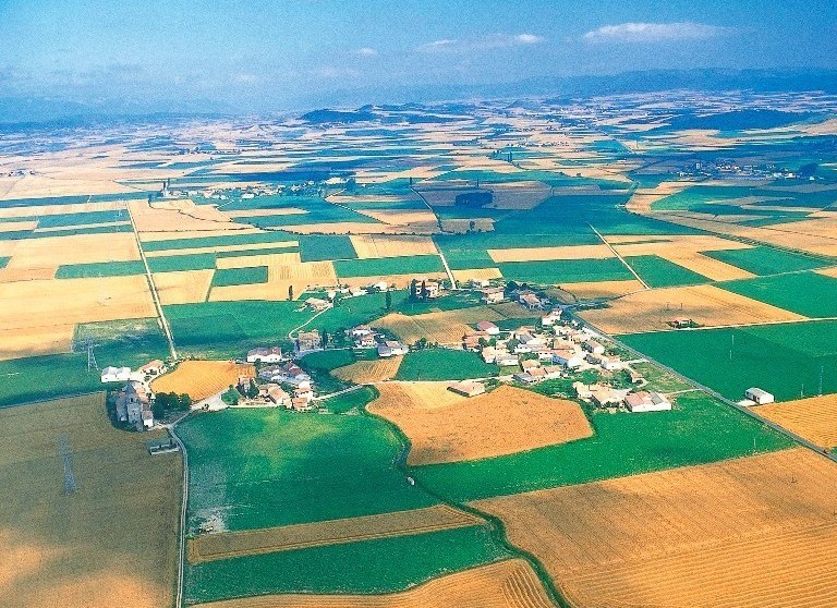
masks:
[[[181,459],[99,397],[22,404],[157,358],[151,388],[197,401],[279,345],[317,413],[173,427],[185,606],[834,605],[837,465],[702,387],[763,388],[754,413],[837,445],[835,111],[668,92],[4,132],[0,604],[165,607],[178,575]],[[461,348],[492,321],[480,346],[550,364],[566,341],[523,340],[559,306],[631,367],[530,385]],[[359,325],[411,351],[377,358]],[[325,350],[294,353],[310,330]],[[448,390],[465,378],[488,392]],[[672,409],[596,408],[575,380]]]

